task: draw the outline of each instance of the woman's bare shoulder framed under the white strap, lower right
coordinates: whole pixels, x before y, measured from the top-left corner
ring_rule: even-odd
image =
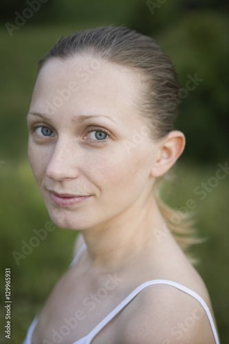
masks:
[[[204,308],[173,286],[149,286],[129,306],[122,314],[123,325],[120,322],[123,343],[215,343]]]

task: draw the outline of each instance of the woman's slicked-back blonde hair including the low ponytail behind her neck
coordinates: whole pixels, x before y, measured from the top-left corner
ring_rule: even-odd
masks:
[[[68,58],[81,52],[89,52],[105,61],[131,67],[144,78],[142,94],[136,100],[142,116],[147,118],[155,140],[172,131],[177,117],[177,73],[170,58],[149,36],[124,27],[106,27],[76,32],[60,39],[50,52],[39,61],[39,69],[50,58]],[[155,197],[168,228],[179,246],[186,250],[196,244],[193,222],[184,219],[179,211],[166,205],[158,190]],[[182,219],[173,221],[175,216]]]

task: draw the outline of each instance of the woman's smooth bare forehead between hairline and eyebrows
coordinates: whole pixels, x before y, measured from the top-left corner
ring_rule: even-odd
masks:
[[[141,76],[130,67],[108,63],[90,55],[51,58],[43,65],[32,95],[32,107],[45,111],[89,114],[109,111],[111,116],[138,116]]]

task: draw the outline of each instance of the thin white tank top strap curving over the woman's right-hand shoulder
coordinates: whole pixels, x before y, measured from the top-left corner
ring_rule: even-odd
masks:
[[[133,290],[133,292],[131,292],[131,294],[129,294],[128,297],[126,297],[122,302],[120,302],[119,305],[105,317],[105,319],[100,321],[100,323],[98,323],[98,325],[94,327],[94,329],[91,330],[91,332],[89,332],[89,334],[86,336],[85,344],[91,343],[92,339],[96,336],[96,334],[98,334],[98,332],[100,332],[100,330],[102,330],[102,328],[105,327],[105,325],[107,325],[107,323],[109,323],[109,321],[111,321],[111,319],[113,319],[139,292],[141,292],[144,288],[153,286],[155,284],[166,284],[168,286],[173,286],[179,290],[182,290],[183,292],[186,292],[186,294],[190,295],[191,297],[194,297],[194,299],[199,301],[199,303],[201,303],[202,307],[204,308],[208,316],[208,320],[212,328],[212,333],[215,338],[215,343],[219,344],[219,338],[217,335],[217,330],[215,328],[215,323],[212,319],[212,314],[210,313],[210,310],[208,308],[208,305],[206,305],[206,302],[196,292],[193,292],[193,290],[190,290],[179,283],[168,281],[166,279],[155,279],[153,281],[147,281],[138,286],[138,288],[135,288],[135,290]],[[76,343],[77,342],[73,344]]]

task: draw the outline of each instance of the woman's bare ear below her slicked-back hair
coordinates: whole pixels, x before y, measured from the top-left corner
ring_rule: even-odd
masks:
[[[164,175],[184,151],[185,137],[181,131],[171,131],[157,142],[157,157],[151,169],[152,177]]]

